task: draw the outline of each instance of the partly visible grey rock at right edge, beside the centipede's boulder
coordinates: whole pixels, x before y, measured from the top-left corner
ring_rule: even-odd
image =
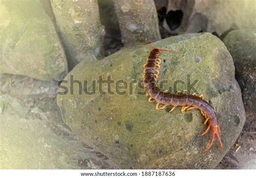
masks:
[[[256,30],[235,30],[228,33],[223,41],[234,61],[246,116],[253,120],[256,116]]]

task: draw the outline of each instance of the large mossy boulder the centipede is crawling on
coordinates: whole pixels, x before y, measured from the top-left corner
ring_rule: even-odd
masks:
[[[158,111],[146,95],[138,93],[143,91],[138,81],[142,80],[143,64],[151,50],[146,47],[125,48],[103,60],[81,63],[73,69],[57,97],[64,122],[80,139],[121,168],[214,168],[233,145],[245,122],[230,53],[210,33],[178,35],[151,45],[179,52],[161,53],[159,80],[168,82],[163,90],[177,82],[177,90],[187,89],[186,84],[190,82],[192,86],[198,80],[194,88],[211,101],[217,112],[223,151],[215,141],[210,151],[200,153],[209,144],[211,134],[198,137],[206,128],[199,110],[185,114],[180,112],[180,107],[172,113]],[[110,89],[114,94],[101,95],[98,86],[96,94],[87,92],[92,91],[92,80],[99,82],[107,76],[115,82],[126,81],[128,89],[121,91],[131,93],[120,94],[113,84]],[[189,77],[191,81],[187,81]],[[87,82],[87,86],[79,88],[82,84],[73,80]],[[132,80],[137,82],[129,84]],[[106,84],[103,90],[107,90]],[[64,95],[64,91],[68,93]]]

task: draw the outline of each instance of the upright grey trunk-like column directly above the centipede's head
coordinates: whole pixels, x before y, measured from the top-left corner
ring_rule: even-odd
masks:
[[[113,0],[124,45],[160,40],[153,0]]]

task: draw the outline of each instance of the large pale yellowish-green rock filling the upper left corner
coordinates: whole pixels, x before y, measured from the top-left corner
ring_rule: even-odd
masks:
[[[0,11],[0,73],[62,79],[65,53],[39,1],[2,1]]]

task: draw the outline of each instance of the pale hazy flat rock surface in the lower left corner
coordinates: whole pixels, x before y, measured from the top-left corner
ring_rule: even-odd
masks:
[[[0,169],[116,168],[63,123],[57,85],[0,75]]]

